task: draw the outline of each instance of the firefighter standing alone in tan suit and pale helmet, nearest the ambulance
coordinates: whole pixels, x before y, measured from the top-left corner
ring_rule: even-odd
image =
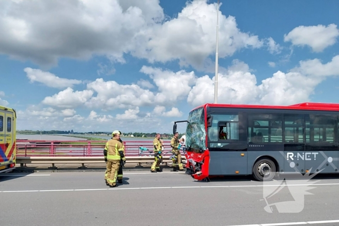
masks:
[[[123,163],[126,161],[118,130],[113,131],[112,138],[106,143],[105,151],[107,153],[107,184],[109,187],[116,187],[120,160],[123,160]]]

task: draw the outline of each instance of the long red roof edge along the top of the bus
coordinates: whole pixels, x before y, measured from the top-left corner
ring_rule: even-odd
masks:
[[[221,107],[221,108],[256,108],[256,109],[286,109],[286,110],[313,110],[313,111],[339,111],[339,104],[330,103],[300,103],[295,105],[279,106],[279,105],[229,105],[229,104],[204,104],[200,107]]]

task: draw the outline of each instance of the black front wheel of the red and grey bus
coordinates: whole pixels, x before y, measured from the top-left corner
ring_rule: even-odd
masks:
[[[276,165],[270,159],[259,159],[253,166],[253,177],[257,181],[271,181],[275,175]]]

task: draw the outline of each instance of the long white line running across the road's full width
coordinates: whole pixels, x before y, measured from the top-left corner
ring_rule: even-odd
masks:
[[[293,184],[293,186],[308,186],[309,184]],[[339,185],[339,183],[319,183],[312,184],[312,186],[320,185]],[[119,185],[119,187],[122,185]],[[32,190],[32,191],[0,191],[0,193],[11,193],[11,192],[73,192],[73,191],[104,191],[104,190],[137,190],[137,189],[192,189],[192,188],[239,188],[239,187],[267,187],[267,186],[280,186],[277,185],[221,185],[221,186],[182,186],[182,187],[139,187],[139,188],[93,188],[93,189],[65,189],[65,190]],[[288,185],[290,186],[290,185]]]

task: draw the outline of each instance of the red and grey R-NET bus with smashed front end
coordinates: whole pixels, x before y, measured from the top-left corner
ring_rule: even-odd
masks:
[[[339,104],[205,104],[186,126],[186,168],[197,180],[212,175],[338,173]]]

